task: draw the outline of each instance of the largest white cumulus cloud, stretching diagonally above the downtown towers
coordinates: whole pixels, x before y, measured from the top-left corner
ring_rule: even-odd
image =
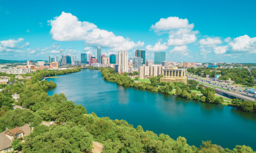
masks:
[[[81,22],[71,13],[62,12],[60,16],[48,20],[48,23],[51,25],[52,39],[58,41],[82,40],[87,46],[99,45],[113,51],[130,50],[144,45],[144,42],[135,43],[122,36],[116,36],[113,32],[98,29],[94,23]]]

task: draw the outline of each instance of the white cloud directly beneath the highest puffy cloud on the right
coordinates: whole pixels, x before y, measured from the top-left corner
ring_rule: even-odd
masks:
[[[183,34],[179,36],[171,35],[167,42],[168,45],[184,45],[188,43],[193,43],[197,40],[196,35]]]

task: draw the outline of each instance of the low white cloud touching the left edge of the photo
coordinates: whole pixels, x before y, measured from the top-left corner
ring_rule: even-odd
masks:
[[[22,42],[23,40],[24,40],[23,38],[18,38],[18,40],[9,39],[9,40],[0,41],[0,43],[3,47],[10,48],[10,49],[18,49],[18,48],[23,48],[29,45],[28,42],[26,42],[26,44],[23,44],[23,45],[18,45],[18,43]]]

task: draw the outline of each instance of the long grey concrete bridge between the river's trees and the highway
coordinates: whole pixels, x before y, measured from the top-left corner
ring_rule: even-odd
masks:
[[[211,86],[207,86],[207,85],[204,85],[206,87],[211,87]],[[212,88],[212,87],[211,87]],[[239,99],[242,99],[242,100],[249,100],[249,101],[255,101],[255,98],[253,97],[248,97],[246,95],[242,95],[240,93],[236,93],[236,92],[231,92],[231,91],[227,91],[227,90],[221,90],[219,88],[214,88],[215,89],[215,92],[220,94],[220,95],[228,95],[229,97],[230,96],[233,96],[233,97],[236,97],[236,98],[239,98]]]

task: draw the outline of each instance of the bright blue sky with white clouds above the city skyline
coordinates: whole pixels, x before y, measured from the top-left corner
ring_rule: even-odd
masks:
[[[0,1],[0,59],[135,49],[146,60],[256,63],[256,1]]]

